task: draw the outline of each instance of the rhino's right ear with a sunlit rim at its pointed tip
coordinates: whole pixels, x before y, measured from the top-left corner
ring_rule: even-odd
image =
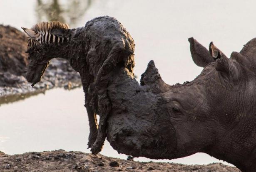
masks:
[[[227,58],[226,55],[213,44],[213,42],[209,45],[209,52],[216,61],[216,70],[219,71],[222,76],[226,76],[228,78],[231,77],[232,79],[238,78],[239,72],[234,61]]]

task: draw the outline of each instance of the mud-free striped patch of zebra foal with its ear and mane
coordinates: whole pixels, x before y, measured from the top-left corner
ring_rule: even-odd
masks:
[[[22,27],[26,34],[30,37],[28,47],[37,44],[60,44],[68,42],[70,35],[67,34],[69,27],[61,22],[40,22],[32,29]]]

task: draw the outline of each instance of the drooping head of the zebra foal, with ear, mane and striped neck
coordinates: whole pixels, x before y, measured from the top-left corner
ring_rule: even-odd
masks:
[[[67,46],[71,29],[61,22],[40,22],[31,29],[22,27],[28,36],[28,66],[26,78],[34,86],[41,80],[50,59],[61,57]]]

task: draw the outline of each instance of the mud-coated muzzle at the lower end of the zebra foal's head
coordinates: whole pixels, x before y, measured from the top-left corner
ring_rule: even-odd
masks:
[[[28,82],[32,83],[31,86],[37,84],[44,74],[45,70],[47,69],[48,63],[46,64],[38,64],[35,68],[28,67],[26,73],[26,79]]]

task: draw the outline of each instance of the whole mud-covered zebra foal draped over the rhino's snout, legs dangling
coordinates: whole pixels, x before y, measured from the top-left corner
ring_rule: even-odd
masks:
[[[133,73],[134,41],[113,17],[97,17],[85,27],[70,29],[60,22],[41,22],[31,29],[22,27],[28,36],[27,81],[40,81],[50,59],[68,59],[80,73],[89,118],[88,147],[97,154],[106,138],[107,117],[111,102],[107,95],[109,77],[115,67],[124,66]],[[97,125],[96,114],[99,114]]]

